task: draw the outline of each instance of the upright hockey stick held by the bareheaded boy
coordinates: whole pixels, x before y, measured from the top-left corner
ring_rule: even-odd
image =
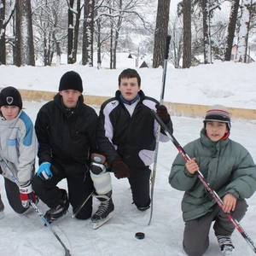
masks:
[[[165,87],[166,87],[166,71],[167,71],[167,61],[168,61],[168,55],[169,55],[170,41],[171,41],[171,36],[167,35],[164,69],[163,69],[163,74],[162,74],[162,88],[161,88],[161,95],[160,95],[160,105],[164,102]],[[160,138],[160,125],[158,125],[157,136],[156,136],[156,141],[155,141],[155,149],[154,149],[154,165],[153,165],[153,171],[152,171],[152,177],[151,177],[151,209],[150,209],[150,217],[149,217],[148,225],[150,225],[152,215],[153,215],[154,182],[155,182],[155,175],[156,175],[159,138]]]

